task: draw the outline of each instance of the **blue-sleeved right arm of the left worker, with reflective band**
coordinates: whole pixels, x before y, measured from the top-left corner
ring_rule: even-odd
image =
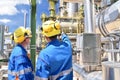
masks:
[[[15,57],[15,70],[17,72],[16,78],[19,80],[34,80],[33,67],[27,56]]]

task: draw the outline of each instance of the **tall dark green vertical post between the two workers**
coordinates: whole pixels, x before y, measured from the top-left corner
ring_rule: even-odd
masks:
[[[31,38],[31,45],[30,45],[30,49],[31,49],[31,60],[32,60],[32,64],[35,70],[35,55],[36,55],[36,0],[31,0],[32,4],[31,4],[31,31],[32,31],[32,38]]]

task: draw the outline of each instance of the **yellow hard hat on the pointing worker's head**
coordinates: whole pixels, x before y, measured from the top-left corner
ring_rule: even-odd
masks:
[[[45,23],[43,23],[41,29],[43,35],[47,37],[52,37],[60,34],[60,24],[58,22],[46,21]]]

